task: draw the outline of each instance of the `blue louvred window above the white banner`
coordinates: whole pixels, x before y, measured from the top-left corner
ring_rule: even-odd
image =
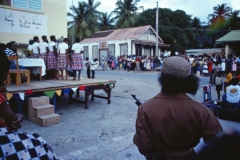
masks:
[[[12,0],[12,6],[16,8],[42,11],[42,0]]]

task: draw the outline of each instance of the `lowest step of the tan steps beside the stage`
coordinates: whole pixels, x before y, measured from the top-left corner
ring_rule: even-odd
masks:
[[[53,124],[60,123],[60,115],[58,114],[49,114],[44,116],[39,116],[37,124],[40,126],[50,126]]]

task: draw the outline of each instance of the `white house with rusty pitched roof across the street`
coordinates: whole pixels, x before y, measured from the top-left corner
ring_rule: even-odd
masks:
[[[108,55],[159,56],[170,45],[164,44],[159,36],[157,38],[158,53],[155,53],[156,33],[150,25],[96,32],[80,43],[84,49],[83,59],[97,58],[101,63]]]

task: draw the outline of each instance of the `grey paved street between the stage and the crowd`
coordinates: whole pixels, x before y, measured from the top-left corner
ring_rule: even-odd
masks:
[[[86,78],[86,71],[81,76]],[[57,107],[60,124],[41,127],[26,119],[20,131],[39,133],[64,160],[143,160],[132,143],[137,106],[130,95],[136,94],[142,102],[155,96],[160,91],[157,77],[158,72],[97,70],[96,78],[117,81],[110,105],[104,99],[95,98],[86,110],[83,104],[68,105],[67,96],[61,97]],[[201,77],[201,85],[208,81],[209,77]],[[104,94],[103,91],[96,93]],[[214,89],[212,97],[217,97]],[[202,89],[192,98],[202,102]],[[240,128],[239,122],[220,122],[224,130]]]

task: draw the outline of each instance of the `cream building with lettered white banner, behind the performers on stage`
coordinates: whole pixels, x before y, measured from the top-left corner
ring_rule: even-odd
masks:
[[[67,37],[66,0],[1,0],[0,43],[28,44],[42,35]]]

